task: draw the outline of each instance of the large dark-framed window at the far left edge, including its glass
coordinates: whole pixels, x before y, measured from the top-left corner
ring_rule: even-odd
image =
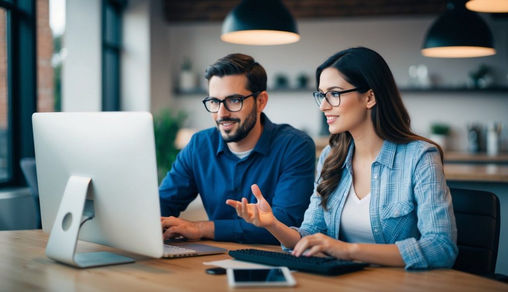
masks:
[[[25,183],[36,98],[36,1],[0,0],[0,187]]]

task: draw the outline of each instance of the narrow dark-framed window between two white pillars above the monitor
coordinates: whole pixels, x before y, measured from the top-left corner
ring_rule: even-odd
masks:
[[[124,0],[103,1],[102,110],[120,110],[121,14]]]

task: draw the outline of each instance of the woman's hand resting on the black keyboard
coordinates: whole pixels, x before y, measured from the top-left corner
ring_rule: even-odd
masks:
[[[351,248],[353,248],[351,243],[333,239],[323,233],[316,233],[302,237],[291,254],[300,257],[302,254],[310,256],[323,252],[337,259],[350,261]]]

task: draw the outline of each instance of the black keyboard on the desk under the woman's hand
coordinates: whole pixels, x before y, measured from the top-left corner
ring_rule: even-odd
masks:
[[[237,259],[272,266],[288,267],[291,270],[325,275],[339,275],[359,271],[369,264],[337,260],[323,257],[295,257],[289,253],[266,251],[260,249],[230,250],[228,254]]]

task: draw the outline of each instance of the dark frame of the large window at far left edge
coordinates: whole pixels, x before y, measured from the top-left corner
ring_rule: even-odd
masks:
[[[7,11],[6,84],[10,176],[0,182],[0,188],[4,188],[25,186],[19,161],[24,157],[35,157],[31,115],[37,111],[37,5],[36,0],[0,0],[0,7]]]

